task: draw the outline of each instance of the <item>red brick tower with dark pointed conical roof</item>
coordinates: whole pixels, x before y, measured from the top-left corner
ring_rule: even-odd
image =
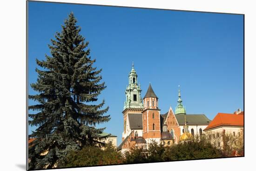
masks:
[[[160,109],[158,108],[158,97],[149,84],[148,91],[143,98],[144,108],[142,111],[143,138],[150,143],[155,140],[160,143]]]

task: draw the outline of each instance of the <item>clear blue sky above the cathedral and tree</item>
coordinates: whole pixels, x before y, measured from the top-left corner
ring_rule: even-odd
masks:
[[[36,82],[35,58],[50,55],[47,44],[70,12],[88,40],[91,57],[107,88],[99,96],[111,120],[99,127],[118,136],[132,62],[142,96],[151,82],[164,114],[177,104],[178,85],[187,114],[243,110],[243,15],[196,13],[29,2],[28,82]],[[18,25],[17,25],[18,27]],[[28,93],[36,94],[29,86]],[[35,104],[28,101],[29,105]],[[29,133],[35,127],[29,127]]]

